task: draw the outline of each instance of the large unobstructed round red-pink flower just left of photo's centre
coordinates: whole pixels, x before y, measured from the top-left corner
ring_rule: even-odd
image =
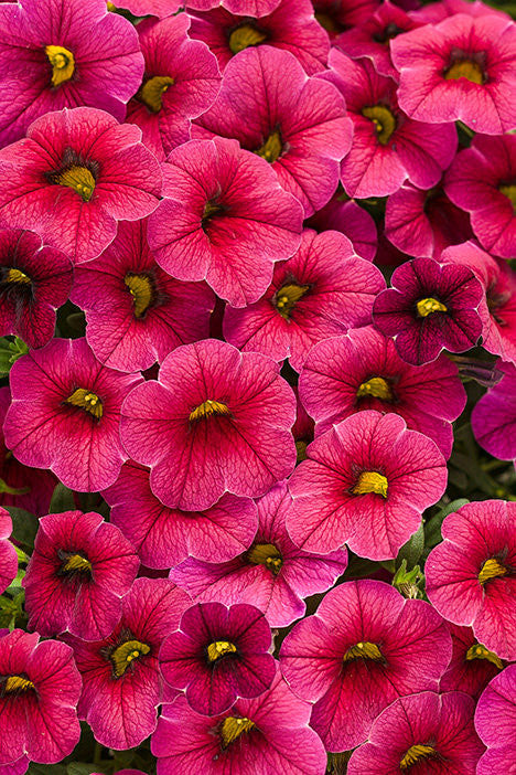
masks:
[[[165,506],[203,510],[226,491],[258,497],[288,476],[294,420],[295,396],[277,363],[207,339],[171,352],[159,381],[131,392],[120,429]]]

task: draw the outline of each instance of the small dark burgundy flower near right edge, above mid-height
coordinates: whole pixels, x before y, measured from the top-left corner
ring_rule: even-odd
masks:
[[[375,300],[373,319],[386,337],[395,337],[399,355],[415,365],[434,361],[445,348],[475,347],[483,327],[477,307],[482,286],[465,266],[413,258],[398,266],[393,288]]]

